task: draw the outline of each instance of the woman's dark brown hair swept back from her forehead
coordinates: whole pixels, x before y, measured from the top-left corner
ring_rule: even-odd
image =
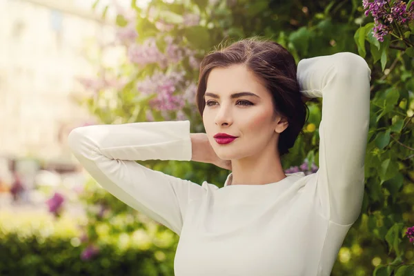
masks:
[[[302,101],[296,77],[296,63],[293,55],[275,41],[257,37],[242,39],[204,57],[200,64],[197,87],[197,108],[203,116],[206,103],[207,79],[213,68],[226,68],[234,64],[244,64],[256,77],[259,77],[273,96],[275,115],[286,117],[288,128],[279,136],[279,155],[289,152],[297,136],[303,133],[307,121],[308,107]]]

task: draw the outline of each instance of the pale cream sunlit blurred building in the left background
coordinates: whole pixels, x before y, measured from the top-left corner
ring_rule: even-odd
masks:
[[[0,156],[72,163],[68,132],[91,119],[72,100],[85,92],[77,77],[117,62],[101,56],[114,11],[103,21],[94,2],[0,0]]]

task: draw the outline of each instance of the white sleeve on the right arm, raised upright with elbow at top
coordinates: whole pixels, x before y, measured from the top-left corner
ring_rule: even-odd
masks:
[[[317,190],[322,209],[337,224],[353,224],[364,196],[371,70],[350,52],[299,62],[307,97],[322,97]]]

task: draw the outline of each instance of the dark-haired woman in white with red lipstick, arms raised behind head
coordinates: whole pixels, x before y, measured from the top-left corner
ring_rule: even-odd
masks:
[[[103,188],[180,235],[176,276],[330,275],[359,216],[370,69],[348,53],[304,59],[244,39],[201,63],[189,121],[86,126],[70,147]],[[306,121],[302,99],[322,97],[319,170],[285,174],[280,157]],[[134,160],[204,161],[231,168],[223,188]]]

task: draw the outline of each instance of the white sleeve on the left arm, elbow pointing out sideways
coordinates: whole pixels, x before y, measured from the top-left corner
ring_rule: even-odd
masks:
[[[70,132],[68,144],[109,193],[180,235],[188,201],[201,186],[135,160],[190,161],[189,121],[84,126]]]

